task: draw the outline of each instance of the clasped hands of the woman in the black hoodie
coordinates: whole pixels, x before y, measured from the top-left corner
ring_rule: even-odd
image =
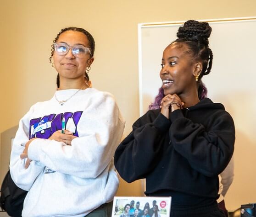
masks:
[[[161,113],[167,118],[169,118],[170,106],[173,112],[177,109],[182,109],[184,102],[181,101],[177,94],[168,94],[162,98],[160,103]]]

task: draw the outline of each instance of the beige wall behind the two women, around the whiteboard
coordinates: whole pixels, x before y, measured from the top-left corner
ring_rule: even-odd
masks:
[[[62,27],[81,26],[95,37],[89,76],[94,87],[116,96],[126,136],[139,117],[138,23],[256,16],[255,0],[0,0],[0,5],[0,132],[17,125],[33,103],[53,95],[50,45]],[[140,182],[121,182],[118,195],[141,192]],[[230,201],[232,209],[254,202]]]

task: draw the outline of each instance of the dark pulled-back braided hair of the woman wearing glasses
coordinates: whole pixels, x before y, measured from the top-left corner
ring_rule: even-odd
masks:
[[[53,54],[54,54],[54,43],[56,43],[58,41],[60,35],[63,32],[67,32],[67,31],[82,32],[87,37],[87,39],[89,41],[89,49],[90,49],[90,52],[91,52],[90,53],[90,58],[92,58],[93,55],[94,55],[94,52],[95,52],[95,41],[94,41],[94,38],[92,37],[92,35],[83,28],[67,27],[67,28],[61,29],[61,31],[57,34],[56,38],[53,40],[53,44],[51,45],[51,55],[50,55],[50,58],[49,58],[50,63],[51,63],[51,60],[52,60],[52,57],[53,57]],[[84,78],[85,78],[86,81],[89,81],[89,75],[86,71],[84,72]],[[57,85],[57,88],[60,87],[60,74],[57,75],[56,85]]]

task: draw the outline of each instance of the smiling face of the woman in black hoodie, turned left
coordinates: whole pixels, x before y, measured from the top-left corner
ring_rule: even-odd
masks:
[[[174,42],[163,52],[160,77],[163,81],[164,95],[182,96],[197,90],[195,75],[199,70],[197,69],[198,63],[192,61],[192,58],[185,53],[186,50],[185,44]]]

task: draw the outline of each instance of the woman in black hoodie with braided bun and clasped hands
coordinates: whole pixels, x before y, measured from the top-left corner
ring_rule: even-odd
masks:
[[[200,100],[209,74],[211,27],[187,21],[163,52],[164,97],[133,125],[115,153],[128,181],[146,179],[147,196],[172,196],[171,217],[224,217],[218,209],[218,174],[234,152],[232,117],[220,103]]]

